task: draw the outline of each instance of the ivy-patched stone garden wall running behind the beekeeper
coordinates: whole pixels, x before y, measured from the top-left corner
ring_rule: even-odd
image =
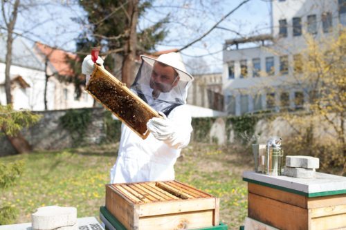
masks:
[[[120,121],[112,119],[104,108],[37,112],[42,118],[21,133],[34,150],[60,150],[76,146],[118,142]],[[284,140],[297,135],[291,124],[282,117],[263,115],[244,117],[194,117],[192,141],[226,144],[234,142],[265,143],[271,135]],[[325,128],[316,135],[326,133]],[[329,132],[330,133],[330,132]],[[325,137],[320,137],[325,138]],[[15,153],[7,138],[0,136],[0,155]]]

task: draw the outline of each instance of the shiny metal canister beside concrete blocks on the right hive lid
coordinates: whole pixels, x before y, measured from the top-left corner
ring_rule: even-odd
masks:
[[[284,163],[284,151],[281,146],[280,137],[271,137],[266,143],[266,175],[282,175]]]

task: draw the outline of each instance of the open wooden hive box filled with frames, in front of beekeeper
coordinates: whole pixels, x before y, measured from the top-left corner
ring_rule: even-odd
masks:
[[[176,180],[107,184],[106,208],[128,230],[219,225],[219,198]]]

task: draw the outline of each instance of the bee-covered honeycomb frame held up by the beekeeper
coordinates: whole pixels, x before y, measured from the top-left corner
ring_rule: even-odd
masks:
[[[149,135],[147,121],[158,113],[103,67],[95,64],[86,91],[140,137]]]

